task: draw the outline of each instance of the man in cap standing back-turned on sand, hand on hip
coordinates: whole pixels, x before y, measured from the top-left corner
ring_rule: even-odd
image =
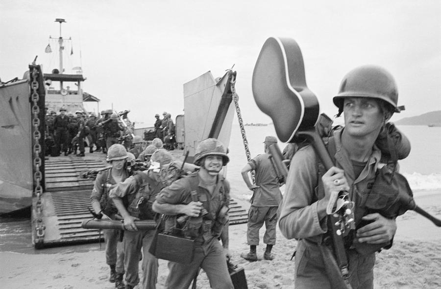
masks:
[[[250,247],[249,253],[241,254],[248,261],[257,261],[256,246],[259,245],[259,230],[265,222],[266,232],[264,243],[267,244],[264,259],[272,260],[272,246],[276,241],[277,208],[282,200],[279,182],[271,163],[270,146],[277,143],[275,136],[265,137],[265,154],[253,157],[242,169],[242,178],[248,189],[253,191],[251,206],[248,210],[248,229],[246,239]],[[249,180],[248,173],[256,172],[256,183]]]

